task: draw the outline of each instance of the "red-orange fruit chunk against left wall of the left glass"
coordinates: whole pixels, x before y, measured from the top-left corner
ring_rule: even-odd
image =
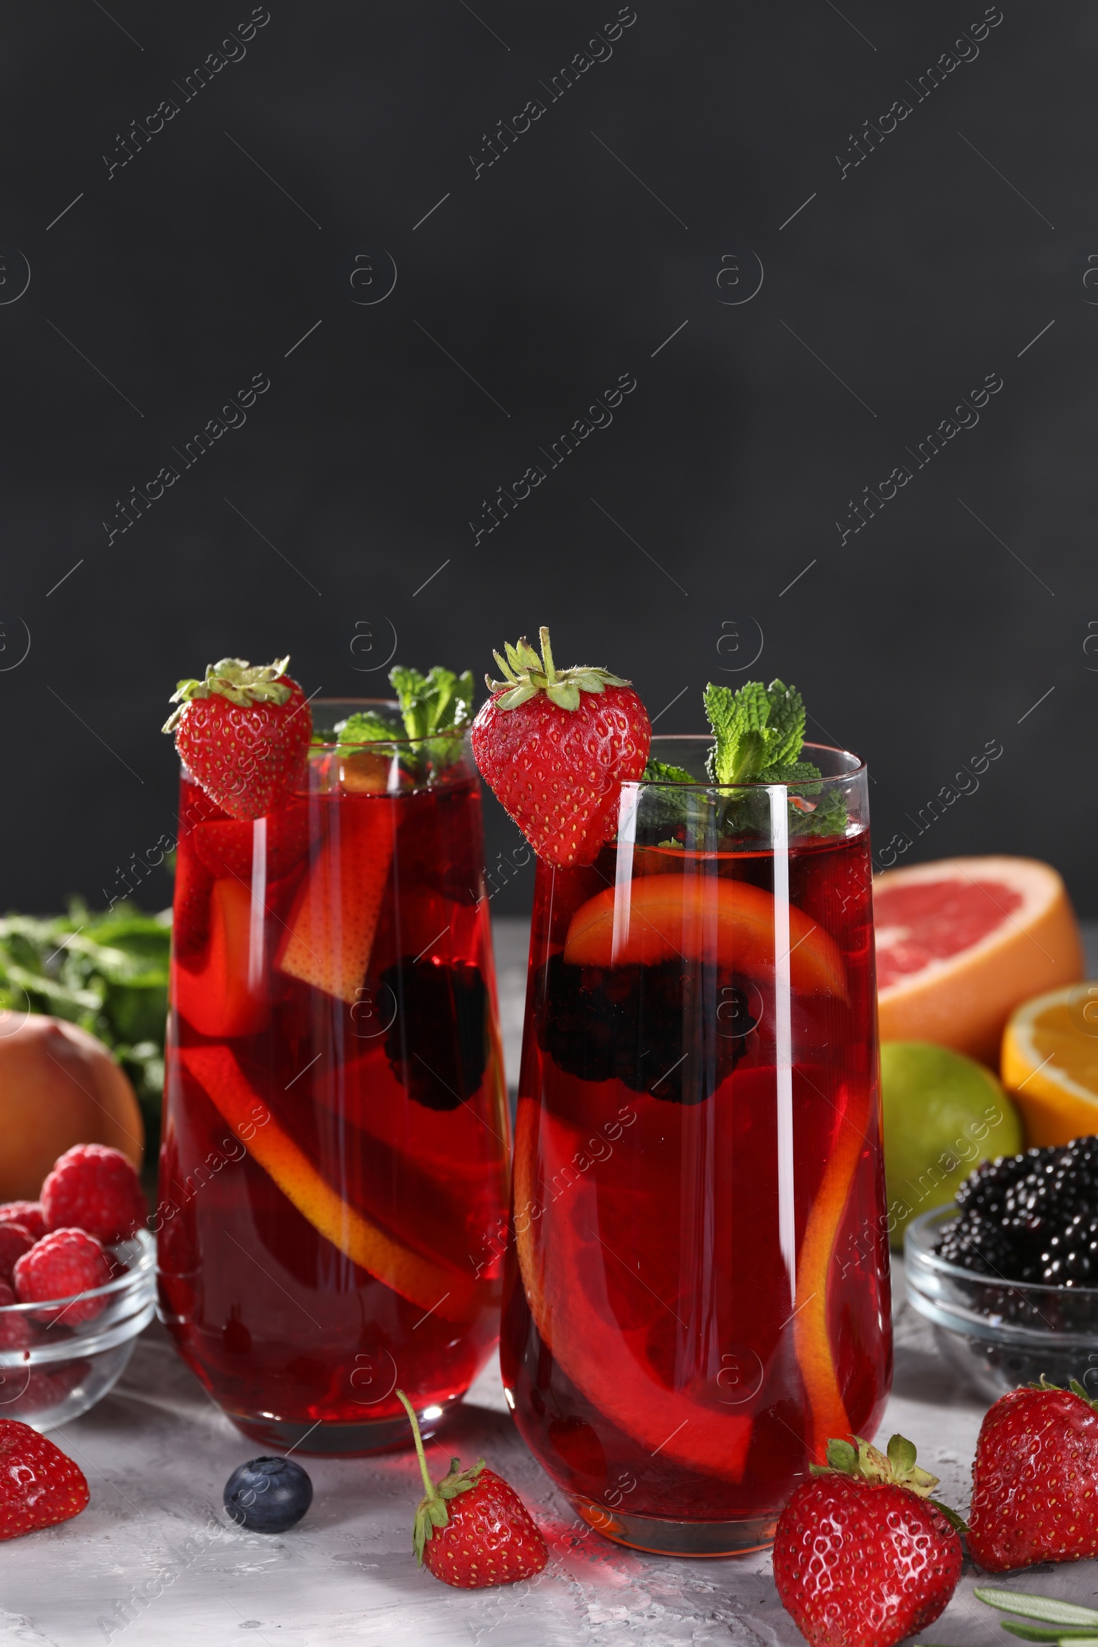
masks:
[[[199,1034],[258,1034],[270,1016],[267,988],[249,990],[252,889],[221,876],[209,893],[209,942],[199,972],[176,963],[174,1005]]]

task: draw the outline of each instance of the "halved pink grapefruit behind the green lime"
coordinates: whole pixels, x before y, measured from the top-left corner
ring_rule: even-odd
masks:
[[[940,858],[872,883],[884,1041],[937,1041],[996,1066],[1007,1018],[1083,977],[1063,881],[1035,858]]]

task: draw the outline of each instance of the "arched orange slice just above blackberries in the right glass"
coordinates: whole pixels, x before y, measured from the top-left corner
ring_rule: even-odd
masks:
[[[588,899],[568,927],[573,967],[649,967],[683,957],[774,977],[774,898],[747,881],[711,875],[649,875]],[[617,944],[614,911],[617,907]],[[789,906],[789,967],[795,990],[846,998],[843,959],[833,939]]]

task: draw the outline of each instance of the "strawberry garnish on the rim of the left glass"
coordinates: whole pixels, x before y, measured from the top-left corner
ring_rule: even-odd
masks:
[[[222,657],[171,695],[179,708],[163,731],[174,733],[179,759],[230,819],[265,817],[305,771],[313,716],[288,662]]]

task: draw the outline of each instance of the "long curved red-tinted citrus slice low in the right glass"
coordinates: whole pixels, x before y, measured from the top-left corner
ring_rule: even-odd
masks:
[[[645,1372],[640,1347],[634,1352],[630,1342],[644,1339],[644,1332],[622,1331],[609,1304],[603,1311],[588,1298],[588,1286],[598,1286],[601,1255],[591,1265],[586,1243],[576,1239],[576,1209],[568,1219],[555,1222],[550,1235],[537,1239],[540,1220],[528,1215],[528,1209],[538,1204],[537,1131],[535,1105],[520,1099],[515,1207],[527,1209],[527,1215],[515,1219],[515,1245],[542,1341],[576,1388],[624,1435],[672,1463],[739,1481],[751,1446],[751,1416],[705,1407],[688,1393],[668,1390],[654,1372]],[[584,1187],[575,1186],[573,1194],[584,1194]],[[578,1275],[583,1263],[586,1285]]]

